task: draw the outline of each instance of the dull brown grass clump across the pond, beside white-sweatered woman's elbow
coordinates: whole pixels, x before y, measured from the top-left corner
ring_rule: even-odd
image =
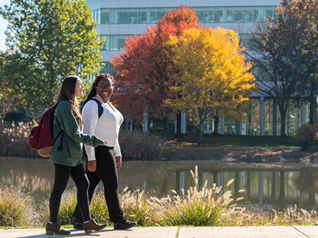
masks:
[[[119,144],[124,158],[160,159],[165,155],[165,143],[158,135],[151,135],[139,130],[121,131]]]

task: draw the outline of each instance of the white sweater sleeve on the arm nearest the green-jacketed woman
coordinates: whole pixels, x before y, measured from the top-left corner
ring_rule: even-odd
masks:
[[[85,134],[94,135],[95,128],[98,120],[98,105],[94,101],[88,101],[82,111],[81,117],[83,119],[84,130]],[[84,144],[85,151],[87,154],[87,160],[96,160],[95,158],[95,150],[94,147],[90,145]]]

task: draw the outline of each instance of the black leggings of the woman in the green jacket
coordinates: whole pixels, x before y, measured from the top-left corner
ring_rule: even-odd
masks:
[[[65,165],[54,164],[54,185],[50,196],[50,222],[58,221],[58,212],[61,203],[62,193],[64,192],[70,176],[74,180],[78,189],[79,210],[84,221],[90,220],[89,203],[87,189],[89,182],[82,164],[71,167]]]

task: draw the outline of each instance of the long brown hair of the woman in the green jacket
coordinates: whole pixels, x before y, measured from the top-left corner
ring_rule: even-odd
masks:
[[[61,86],[60,92],[58,97],[56,98],[56,103],[59,103],[63,100],[70,101],[74,113],[74,117],[79,123],[79,126],[83,125],[83,119],[80,116],[79,113],[79,101],[77,100],[75,89],[76,89],[76,83],[78,81],[79,77],[76,75],[69,75],[67,76]]]

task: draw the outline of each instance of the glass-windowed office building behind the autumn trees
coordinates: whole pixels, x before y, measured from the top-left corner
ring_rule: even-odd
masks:
[[[239,33],[242,44],[248,48],[249,35],[255,23],[264,21],[265,17],[276,17],[275,8],[280,0],[87,0],[93,18],[97,21],[96,31],[100,37],[106,37],[102,49],[105,63],[103,72],[113,72],[113,55],[124,50],[125,39],[135,34],[146,32],[148,26],[154,25],[163,15],[180,5],[193,6],[199,21],[205,27],[218,26],[234,29]],[[242,121],[221,117],[218,131],[221,134],[239,135],[279,135],[280,114],[276,103],[269,97],[257,92],[252,94],[253,105]],[[308,104],[299,103],[289,106],[286,118],[286,133],[292,135],[295,130],[308,121]],[[149,122],[149,120],[147,120]],[[185,112],[181,119],[182,133],[196,130],[189,123]],[[144,126],[145,130],[149,129]],[[214,123],[208,118],[205,132],[212,133]]]

